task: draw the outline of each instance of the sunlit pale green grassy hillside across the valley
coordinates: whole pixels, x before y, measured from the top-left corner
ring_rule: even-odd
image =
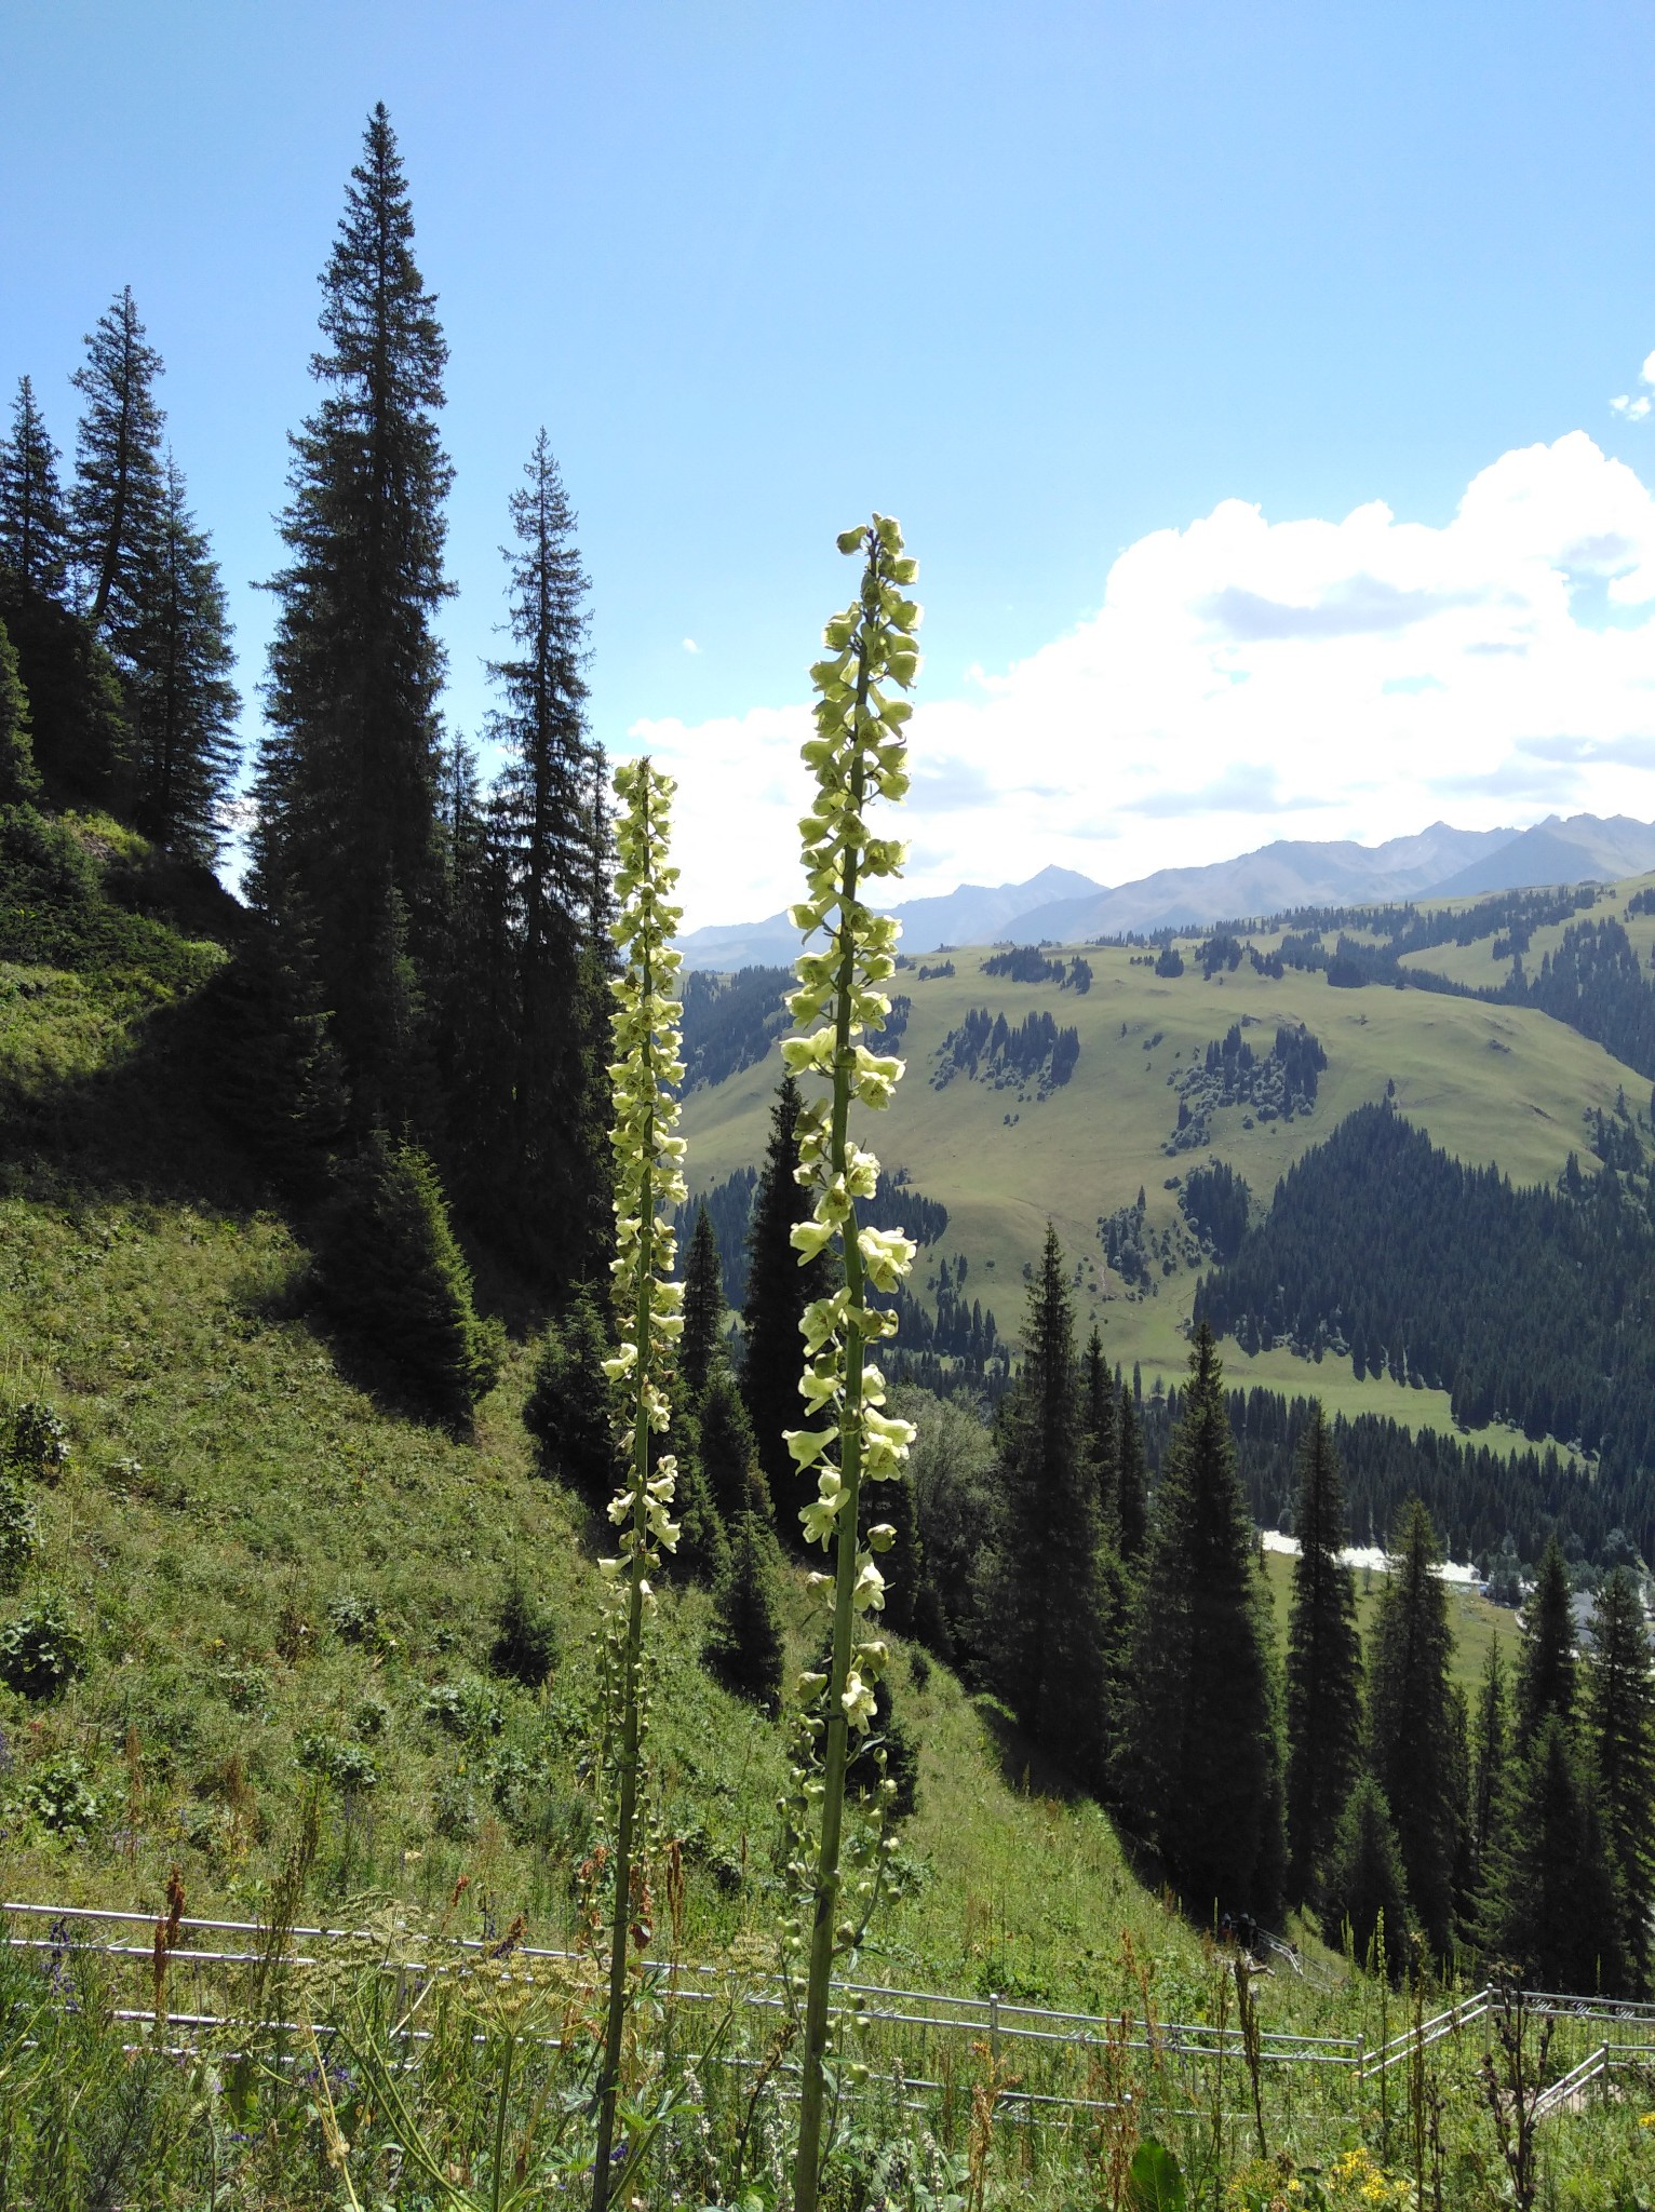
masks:
[[[1624,911],[1626,887],[1617,911]],[[1655,920],[1633,922],[1655,945]],[[1527,1006],[1487,1006],[1425,991],[1334,989],[1323,973],[1290,969],[1283,980],[1246,962],[1204,980],[1188,958],[1199,936],[1184,940],[1186,969],[1162,978],[1122,947],[1091,947],[1093,982],[1084,995],[1055,984],[1022,984],[982,973],[989,951],[951,951],[951,978],[918,980],[903,971],[894,987],[912,998],[901,1051],[907,1077],[876,1130],[887,1168],[907,1168],[914,1183],[949,1210],[945,1241],[927,1252],[965,1252],[969,1292],[996,1310],[1002,1334],[1018,1327],[1022,1270],[1040,1250],[1047,1219],[1075,1267],[1078,1318],[1102,1329],[1111,1360],[1144,1363],[1144,1378],[1184,1369],[1182,1325],[1199,1274],[1199,1252],[1177,1208],[1168,1177],[1208,1157],[1226,1159],[1268,1203],[1277,1179],[1356,1106],[1394,1086],[1398,1108],[1434,1144],[1469,1164],[1496,1164],[1518,1183],[1553,1179],[1569,1152],[1591,1166],[1584,1117],[1611,1110],[1617,1091],[1646,1102],[1648,1084],[1573,1029]],[[1257,936],[1261,949],[1274,938]],[[1538,964],[1538,942],[1531,964]],[[1456,947],[1429,958],[1447,964]],[[1478,982],[1498,980],[1489,947]],[[1038,1097],[1031,1088],[993,1088],[956,1075],[931,1082],[938,1048],[971,1006],[1005,1011],[1011,1024],[1047,1011],[1080,1033],[1080,1060],[1066,1084]],[[1328,1053],[1314,1108],[1292,1119],[1255,1119],[1241,1106],[1212,1117],[1210,1144],[1168,1157],[1177,1124],[1175,1075],[1199,1060],[1232,1022],[1268,1053],[1277,1024],[1303,1022]],[[693,1188],[759,1161],[768,1110],[781,1075],[779,1044],[763,1062],[721,1084],[699,1088],[684,1110]],[[1252,1126],[1248,1126],[1252,1121]],[[1146,1194],[1148,1230],[1166,1239],[1148,1292],[1111,1276],[1097,1221]],[[1286,1352],[1241,1358],[1228,1347],[1232,1380],[1283,1391],[1316,1391],[1330,1407],[1392,1413],[1412,1427],[1449,1427],[1447,1398],[1389,1380],[1356,1383],[1347,1365],[1310,1365]],[[1440,1400],[1440,1402],[1438,1402]],[[1505,1431],[1493,1431],[1498,1440]],[[1507,1440],[1511,1440],[1507,1436]]]

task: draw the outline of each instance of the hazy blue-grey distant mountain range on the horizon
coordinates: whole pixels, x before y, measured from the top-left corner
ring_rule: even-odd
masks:
[[[1655,869],[1655,823],[1626,814],[1549,814],[1531,830],[1454,830],[1432,823],[1385,845],[1279,838],[1210,867],[1164,867],[1111,889],[1071,867],[1042,867],[1027,883],[962,883],[943,898],[896,907],[903,951],[940,945],[991,945],[1111,938],[1135,929],[1204,927],[1294,907],[1365,905],[1396,898],[1469,898],[1540,883],[1617,883]],[[679,938],[686,967],[790,967],[799,931],[785,914],[761,922],[693,929]]]

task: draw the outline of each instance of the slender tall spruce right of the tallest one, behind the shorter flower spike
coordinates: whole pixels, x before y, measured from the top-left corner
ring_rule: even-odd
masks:
[[[516,887],[518,1011],[509,1060],[511,1148],[487,1155],[493,1214],[522,1256],[553,1276],[589,1272],[606,1230],[606,1186],[593,1150],[606,993],[593,989],[597,920],[591,790],[602,752],[586,728],[586,573],[575,513],[544,429],[509,500],[513,544],[507,630],[491,661],[502,706],[489,737],[504,750],[493,834]],[[602,856],[600,856],[602,858]],[[597,1148],[602,1150],[602,1146]],[[480,1161],[473,1161],[473,1181]]]

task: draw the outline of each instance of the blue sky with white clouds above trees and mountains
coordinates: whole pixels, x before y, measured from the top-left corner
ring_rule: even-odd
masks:
[[[1655,420],[1611,405],[1655,389],[1646,7],[9,0],[4,55],[0,385],[69,449],[135,288],[248,688],[389,104],[454,356],[451,717],[544,422],[690,920],[788,894],[874,504],[927,602],[914,889],[1655,814]]]

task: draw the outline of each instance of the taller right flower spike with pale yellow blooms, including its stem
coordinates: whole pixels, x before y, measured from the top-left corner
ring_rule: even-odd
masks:
[[[794,2163],[794,2212],[814,2212],[823,2166],[825,2055],[832,2035],[830,1984],[834,1951],[856,1942],[841,1929],[841,1834],[845,1765],[852,1732],[874,1717],[874,1686],[885,1666],[885,1644],[865,1635],[867,1615],[885,1604],[885,1577],[858,1540],[863,1482],[898,1480],[914,1429],[885,1418],[885,1387],[867,1347],[896,1329],[896,1316],[870,1303],[870,1290],[894,1292],[914,1245],[901,1230],[861,1228],[856,1201],[874,1192],[878,1161],[850,1137],[852,1104],[889,1106],[903,1062],[876,1053],[865,1040],[889,1013],[881,984],[896,971],[896,922],[874,914],[867,885],[896,876],[903,847],[874,836],[867,807],[907,792],[903,726],[914,712],[896,692],[918,675],[914,630],[920,611],[907,597],[918,564],[903,553],[903,533],[889,515],[845,531],[841,553],[863,555],[856,599],[823,630],[825,657],[810,670],[816,686],[816,734],[805,765],[816,779],[816,803],[801,821],[805,900],[792,909],[805,936],[799,984],[788,1011],[803,1035],[781,1046],[790,1073],[819,1077],[825,1097],[799,1115],[799,1181],[814,1190],[812,1219],[792,1232],[801,1265],[834,1250],[841,1285],[808,1307],[805,1374],[799,1385],[808,1425],[788,1431],[801,1471],[814,1471],[816,1495],[803,1509],[805,1537],[832,1553],[834,1637],[828,1674],[801,1686],[801,1736],[808,1752],[794,1770],[794,1803],[821,1805],[821,1829],[810,1880],[810,1971],[805,1986],[803,2097]],[[816,942],[812,947],[812,940]],[[810,1026],[816,1024],[816,1026]],[[878,1531],[885,1548],[887,1531]],[[808,1774],[808,1754],[821,1745],[821,1781]],[[885,1785],[889,1790],[889,1785]],[[819,1798],[816,1798],[819,1790]],[[863,1885],[870,1900],[876,1885]]]

